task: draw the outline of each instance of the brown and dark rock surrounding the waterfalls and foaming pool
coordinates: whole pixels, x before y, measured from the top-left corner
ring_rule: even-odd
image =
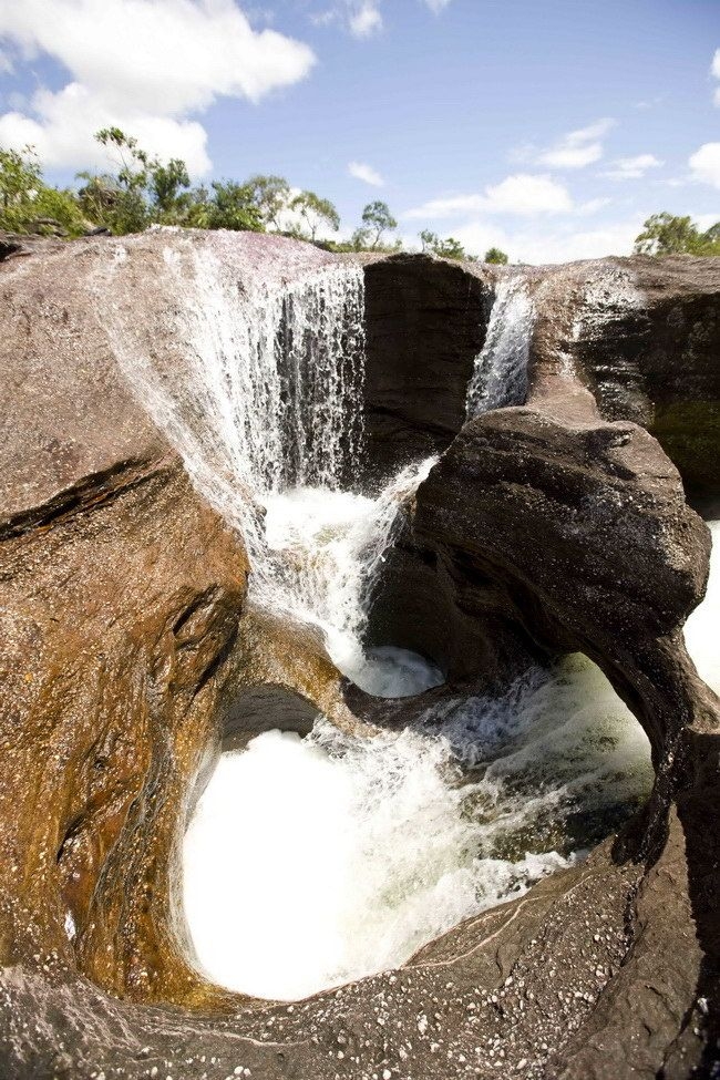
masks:
[[[0,267],[13,419],[0,505],[2,1077],[713,1074],[718,702],[680,636],[709,544],[647,429],[683,385],[688,401],[717,393],[714,266],[535,271],[528,401],[463,426],[503,271],[368,265],[370,472],[443,451],[405,507],[376,635],[439,658],[454,683],[586,652],[648,732],[657,782],[646,812],[584,864],[398,973],[279,1006],[196,970],[179,842],[223,739],[241,743],[268,713],[289,724],[288,702],[300,729],[318,710],[349,728],[358,717],[321,644],[248,607],[241,538],[138,404],[104,316],[137,308],[133,348],[172,371],[183,342],[163,335],[168,266],[225,260],[239,291],[333,260],[277,237],[150,234],[126,247],[120,276],[104,238]],[[608,343],[597,312],[610,301]],[[676,350],[687,382],[671,373]],[[716,445],[700,425],[677,464],[717,494],[698,432]]]

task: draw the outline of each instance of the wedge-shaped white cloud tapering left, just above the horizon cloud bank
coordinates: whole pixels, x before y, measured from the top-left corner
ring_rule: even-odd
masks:
[[[483,212],[487,214],[562,214],[573,209],[573,199],[563,184],[551,176],[516,173],[480,195],[459,195],[431,199],[408,210],[405,218],[441,218]]]

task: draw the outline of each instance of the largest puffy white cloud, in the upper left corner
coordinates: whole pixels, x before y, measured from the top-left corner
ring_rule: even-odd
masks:
[[[254,30],[234,0],[23,0],[0,6],[0,42],[70,72],[29,114],[0,117],[6,141],[31,133],[45,163],[64,166],[96,158],[92,133],[112,123],[205,172],[206,134],[188,113],[219,96],[258,102],[315,63],[302,42]]]

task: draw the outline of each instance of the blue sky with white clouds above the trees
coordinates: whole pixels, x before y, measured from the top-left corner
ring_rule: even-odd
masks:
[[[720,0],[0,0],[0,146],[55,183],[110,124],[513,261],[720,219]]]

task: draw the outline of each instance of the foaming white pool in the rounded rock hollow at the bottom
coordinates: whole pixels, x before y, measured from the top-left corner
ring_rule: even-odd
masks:
[[[651,783],[640,726],[580,657],[425,720],[372,740],[268,732],[220,759],[185,841],[213,978],[295,999],[397,967],[568,865]]]

